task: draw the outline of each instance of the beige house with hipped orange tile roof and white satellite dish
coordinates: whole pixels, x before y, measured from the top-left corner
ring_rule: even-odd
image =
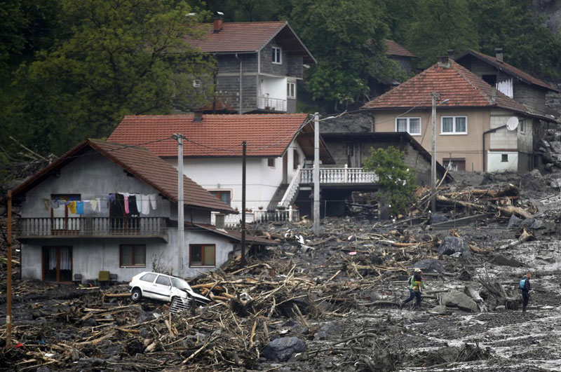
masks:
[[[534,144],[553,121],[445,57],[363,106],[373,132],[408,132],[431,151],[432,96],[436,160],[452,170],[525,172],[539,163]]]

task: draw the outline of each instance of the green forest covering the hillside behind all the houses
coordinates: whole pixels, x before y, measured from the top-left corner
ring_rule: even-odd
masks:
[[[208,55],[182,37],[216,11],[225,22],[287,20],[318,63],[299,84],[302,111],[331,113],[371,99],[372,80],[403,81],[392,39],[419,57],[447,50],[494,55],[529,74],[561,76],[561,39],[527,0],[5,0],[0,3],[0,177],[86,138],[105,138],[127,114],[181,113],[213,87]],[[36,156],[29,158],[30,151]],[[4,174],[2,174],[4,173]]]

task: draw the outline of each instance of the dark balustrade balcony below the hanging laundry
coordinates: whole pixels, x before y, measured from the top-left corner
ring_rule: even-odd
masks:
[[[20,219],[18,239],[76,237],[159,237],[168,242],[165,217],[55,217]]]

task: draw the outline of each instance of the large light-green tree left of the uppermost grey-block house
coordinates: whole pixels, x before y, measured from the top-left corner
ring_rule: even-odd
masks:
[[[208,102],[214,64],[184,43],[203,14],[175,0],[63,0],[70,30],[22,64],[10,123],[42,153],[105,137],[126,114],[187,111]]]

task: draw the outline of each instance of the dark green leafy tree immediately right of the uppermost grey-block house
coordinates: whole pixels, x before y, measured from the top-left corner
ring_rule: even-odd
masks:
[[[291,24],[318,64],[306,71],[313,99],[337,106],[356,102],[368,81],[400,76],[386,56],[388,29],[380,7],[370,0],[295,0]]]

